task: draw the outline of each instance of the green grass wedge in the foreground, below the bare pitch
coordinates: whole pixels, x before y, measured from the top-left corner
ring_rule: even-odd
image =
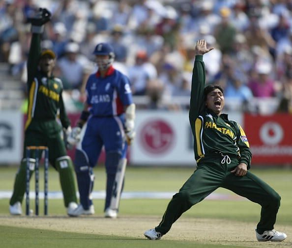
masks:
[[[41,229],[0,226],[1,247],[5,248],[206,248],[191,241],[149,241],[146,239],[57,232]],[[231,248],[226,245],[207,245],[208,248]],[[237,247],[237,246],[236,246]],[[238,246],[237,248],[243,248]]]

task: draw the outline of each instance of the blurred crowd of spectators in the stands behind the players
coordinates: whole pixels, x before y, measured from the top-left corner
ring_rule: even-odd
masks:
[[[52,12],[42,46],[56,52],[54,73],[77,108],[99,42],[112,44],[115,68],[137,99],[147,99],[145,108],[187,107],[172,99],[190,96],[194,48],[203,38],[215,48],[204,56],[206,82],[220,84],[229,102],[259,111],[249,103],[273,97],[275,111],[292,113],[291,0],[0,0],[0,62],[22,82],[27,20],[38,7]]]

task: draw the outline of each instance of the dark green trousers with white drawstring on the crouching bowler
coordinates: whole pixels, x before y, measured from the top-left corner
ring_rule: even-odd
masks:
[[[273,229],[281,197],[268,184],[249,171],[243,177],[231,173],[238,165],[238,158],[231,156],[229,158],[224,159],[220,154],[202,158],[197,170],[173,196],[155,230],[162,235],[166,234],[182,213],[204,200],[219,187],[229,189],[260,204],[262,210],[261,219],[257,225],[258,232]]]

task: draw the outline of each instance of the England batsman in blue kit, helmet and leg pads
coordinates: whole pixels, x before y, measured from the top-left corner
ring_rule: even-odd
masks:
[[[112,65],[115,58],[112,46],[99,43],[93,54],[98,71],[88,78],[84,110],[77,126],[68,137],[71,144],[78,142],[82,137],[75,153],[75,171],[81,204],[71,215],[94,213],[91,198],[94,182],[92,169],[104,146],[107,174],[105,217],[115,218],[123,186],[127,145],[135,137],[135,104],[129,79]],[[81,133],[83,126],[84,135]]]

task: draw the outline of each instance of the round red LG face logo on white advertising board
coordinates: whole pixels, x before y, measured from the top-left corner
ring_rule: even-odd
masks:
[[[140,134],[142,146],[150,153],[164,153],[172,147],[175,141],[172,127],[164,120],[146,122]]]

